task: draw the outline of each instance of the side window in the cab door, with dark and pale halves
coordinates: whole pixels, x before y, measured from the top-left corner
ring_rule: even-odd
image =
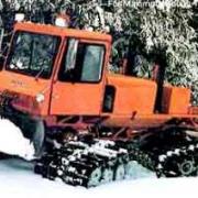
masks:
[[[105,46],[68,40],[58,74],[61,81],[98,82],[101,79]]]

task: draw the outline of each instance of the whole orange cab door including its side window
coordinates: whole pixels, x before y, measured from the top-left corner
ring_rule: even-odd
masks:
[[[68,38],[53,85],[51,114],[100,114],[106,48],[101,42]]]

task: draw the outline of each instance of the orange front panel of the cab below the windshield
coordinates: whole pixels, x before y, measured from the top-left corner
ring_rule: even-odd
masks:
[[[18,103],[14,103],[16,108],[30,113],[48,114],[51,80],[36,80],[34,77],[3,70],[0,73],[0,91],[19,95]],[[37,94],[44,95],[45,99],[41,103],[35,100]]]

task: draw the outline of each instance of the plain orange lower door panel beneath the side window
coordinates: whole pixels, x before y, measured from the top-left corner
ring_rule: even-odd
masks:
[[[103,86],[57,81],[52,95],[51,114],[99,114]]]

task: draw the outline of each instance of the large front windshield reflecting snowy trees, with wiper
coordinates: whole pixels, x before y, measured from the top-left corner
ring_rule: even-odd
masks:
[[[7,62],[7,70],[50,78],[59,40],[57,36],[18,32]]]

